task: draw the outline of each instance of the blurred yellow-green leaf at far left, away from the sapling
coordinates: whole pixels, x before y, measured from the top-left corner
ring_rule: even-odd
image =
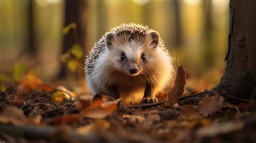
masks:
[[[28,66],[25,64],[15,64],[12,73],[15,81],[20,81],[25,73],[28,71]]]

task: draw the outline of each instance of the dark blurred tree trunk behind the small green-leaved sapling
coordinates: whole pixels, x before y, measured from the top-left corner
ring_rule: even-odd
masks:
[[[77,33],[73,30],[66,34],[63,39],[63,49],[62,53],[65,53],[70,49],[70,47],[79,43],[82,47],[85,47],[85,30],[86,30],[86,18],[84,14],[86,13],[86,1],[83,0],[65,0],[65,22],[64,25],[69,25],[70,23],[77,24]],[[76,31],[75,31],[76,32]],[[78,38],[79,36],[79,38]],[[84,49],[85,50],[85,49]],[[58,78],[66,77],[65,65],[61,64],[60,72]]]

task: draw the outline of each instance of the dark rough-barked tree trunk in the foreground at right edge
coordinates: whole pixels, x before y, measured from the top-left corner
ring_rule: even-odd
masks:
[[[216,90],[250,99],[256,85],[256,1],[230,1],[230,31],[225,73]]]

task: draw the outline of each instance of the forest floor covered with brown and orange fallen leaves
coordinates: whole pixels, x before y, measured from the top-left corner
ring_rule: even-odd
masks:
[[[53,88],[36,78],[11,86],[0,92],[0,142],[256,141],[253,102],[222,101],[220,110],[205,115],[199,105],[124,107],[104,96],[90,98],[75,98],[64,87]]]

